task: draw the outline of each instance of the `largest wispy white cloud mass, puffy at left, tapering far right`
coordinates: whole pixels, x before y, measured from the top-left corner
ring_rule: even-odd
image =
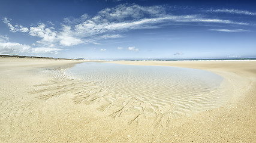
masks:
[[[62,46],[73,46],[80,43],[97,43],[101,39],[121,38],[119,34],[110,35],[109,32],[124,31],[130,29],[159,28],[160,23],[165,25],[181,23],[222,23],[240,24],[248,23],[218,18],[203,18],[202,15],[172,15],[167,14],[165,6],[156,5],[143,7],[136,4],[121,4],[113,8],[105,8],[94,17],[83,14],[80,18],[64,18],[61,31],[55,31],[53,27],[46,27],[44,23],[37,27],[28,28],[10,24],[10,20],[4,18],[4,23],[13,32],[28,32],[32,36],[42,38],[39,43],[58,43]],[[47,21],[49,24],[52,22]],[[158,24],[158,25],[157,25]],[[53,24],[52,24],[53,25]],[[101,36],[100,36],[101,35]]]

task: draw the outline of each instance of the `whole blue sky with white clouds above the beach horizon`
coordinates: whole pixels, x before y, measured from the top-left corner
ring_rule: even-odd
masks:
[[[256,1],[1,0],[0,55],[256,57]]]

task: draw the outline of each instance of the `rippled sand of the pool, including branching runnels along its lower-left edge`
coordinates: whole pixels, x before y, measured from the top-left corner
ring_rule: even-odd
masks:
[[[56,92],[47,94],[48,83],[38,86],[39,98],[71,92],[74,104],[97,103],[98,110],[114,119],[128,117],[129,124],[151,120],[155,126],[164,126],[171,119],[219,107],[228,100],[220,88],[222,77],[203,70],[83,63],[66,74],[71,79],[50,82],[54,83],[51,91]]]

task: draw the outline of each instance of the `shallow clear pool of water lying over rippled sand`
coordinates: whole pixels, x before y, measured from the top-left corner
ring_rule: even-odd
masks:
[[[168,110],[171,117],[191,115],[220,107],[229,99],[221,88],[224,79],[205,70],[88,62],[77,64],[65,74],[85,83],[94,82],[101,91],[111,93],[105,96],[106,92],[97,92],[95,99],[112,104],[113,111],[119,110],[119,103],[127,110],[143,110],[149,117]]]

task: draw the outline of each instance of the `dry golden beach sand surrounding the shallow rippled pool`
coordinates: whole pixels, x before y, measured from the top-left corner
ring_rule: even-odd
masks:
[[[227,104],[166,126],[146,119],[129,124],[129,114],[113,118],[97,102],[82,102],[83,89],[97,86],[62,74],[76,63],[80,61],[0,58],[0,142],[256,141],[256,61],[116,61],[208,70],[230,85]]]

